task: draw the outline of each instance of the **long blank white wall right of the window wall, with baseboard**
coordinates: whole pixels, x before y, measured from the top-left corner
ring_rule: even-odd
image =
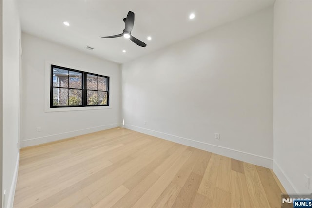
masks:
[[[125,127],[272,167],[273,8],[123,64],[122,84]]]

